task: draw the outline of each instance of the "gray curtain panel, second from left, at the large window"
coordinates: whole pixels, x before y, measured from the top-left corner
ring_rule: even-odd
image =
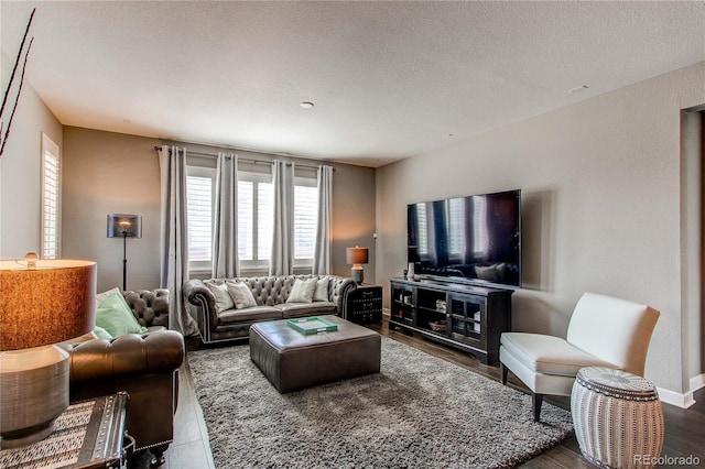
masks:
[[[238,159],[218,153],[213,227],[213,277],[240,276],[238,262]]]

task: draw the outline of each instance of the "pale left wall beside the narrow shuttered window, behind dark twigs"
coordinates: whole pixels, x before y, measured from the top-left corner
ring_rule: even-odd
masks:
[[[14,59],[1,54],[0,62],[0,88],[4,92]],[[14,106],[18,80],[15,78],[4,110],[8,119]],[[4,133],[4,127],[2,131]],[[0,259],[18,259],[28,252],[40,252],[42,132],[62,148],[61,123],[25,80],[0,159]]]

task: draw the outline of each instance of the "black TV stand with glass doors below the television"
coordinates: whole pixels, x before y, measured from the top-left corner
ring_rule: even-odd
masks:
[[[512,290],[438,280],[390,283],[390,328],[470,352],[485,364],[497,363],[499,336],[511,329]]]

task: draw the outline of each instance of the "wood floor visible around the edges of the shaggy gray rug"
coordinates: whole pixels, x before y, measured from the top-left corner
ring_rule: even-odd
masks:
[[[370,328],[383,336],[399,340],[426,353],[443,358],[495,381],[499,381],[499,368],[485,366],[470,355],[436,345],[417,336],[408,336],[400,331],[389,330],[387,320],[381,325],[370,326]],[[521,383],[516,381],[516,379],[512,380],[512,378],[510,373],[510,383],[508,385],[525,391]],[[527,396],[527,399],[530,397]],[[701,389],[695,393],[695,400],[697,403],[688,410],[663,404],[666,432],[662,457],[676,458],[692,456],[699,460],[699,465],[695,467],[705,468],[705,389]],[[546,402],[563,408],[568,408],[567,399],[546,397]],[[669,461],[664,460],[664,462]],[[133,467],[138,468],[147,466],[149,466],[147,458],[142,458],[133,465]],[[555,448],[525,462],[521,467],[541,469],[594,468],[594,466],[588,463],[581,455],[577,440],[574,436],[566,438]],[[687,466],[671,462],[661,465],[660,467]],[[214,468],[206,425],[195,395],[187,364],[181,373],[178,410],[174,417],[174,443],[166,451],[166,463],[162,466],[162,468]]]

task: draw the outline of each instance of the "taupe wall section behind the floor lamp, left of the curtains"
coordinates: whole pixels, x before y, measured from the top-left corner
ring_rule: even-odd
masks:
[[[64,128],[63,253],[98,264],[98,292],[122,287],[122,239],[107,237],[108,214],[142,216],[142,238],[127,240],[128,288],[156,288],[160,173],[156,139]]]

